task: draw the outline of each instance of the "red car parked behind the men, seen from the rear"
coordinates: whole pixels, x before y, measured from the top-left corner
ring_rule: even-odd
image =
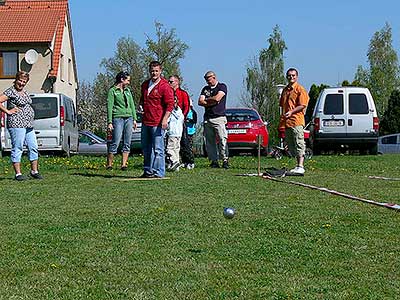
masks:
[[[226,109],[229,152],[258,153],[257,136],[261,138],[261,152],[267,153],[268,130],[260,114],[253,108]]]

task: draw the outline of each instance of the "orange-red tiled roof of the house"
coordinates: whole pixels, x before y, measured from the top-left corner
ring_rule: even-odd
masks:
[[[68,0],[7,0],[0,5],[0,43],[51,42],[57,76]]]

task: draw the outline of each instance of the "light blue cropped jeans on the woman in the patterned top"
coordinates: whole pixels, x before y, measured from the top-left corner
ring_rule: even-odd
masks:
[[[36,141],[36,134],[33,128],[8,128],[11,137],[11,162],[21,162],[24,143],[28,147],[30,161],[38,160],[39,152]]]

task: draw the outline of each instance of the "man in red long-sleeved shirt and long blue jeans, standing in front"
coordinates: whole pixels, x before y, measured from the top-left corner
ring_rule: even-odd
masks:
[[[144,178],[165,176],[165,130],[174,109],[174,92],[168,81],[161,77],[158,61],[149,64],[150,78],[142,83],[140,104],[143,108],[142,149]]]

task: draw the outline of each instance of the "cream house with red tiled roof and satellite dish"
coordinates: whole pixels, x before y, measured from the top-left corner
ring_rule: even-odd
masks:
[[[0,0],[0,92],[17,71],[29,72],[27,91],[63,93],[76,102],[68,0]]]

